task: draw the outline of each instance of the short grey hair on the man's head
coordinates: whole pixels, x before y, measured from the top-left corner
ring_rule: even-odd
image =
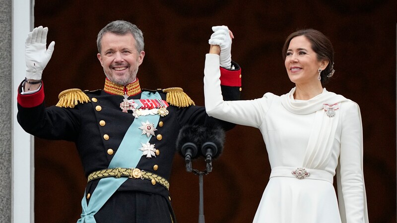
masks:
[[[144,42],[143,42],[143,33],[136,27],[136,25],[123,21],[123,20],[116,20],[101,29],[98,33],[98,38],[96,39],[96,45],[98,47],[98,52],[101,53],[101,41],[103,35],[105,33],[113,33],[116,35],[126,35],[131,33],[133,38],[135,39],[135,48],[140,53],[143,51]]]

